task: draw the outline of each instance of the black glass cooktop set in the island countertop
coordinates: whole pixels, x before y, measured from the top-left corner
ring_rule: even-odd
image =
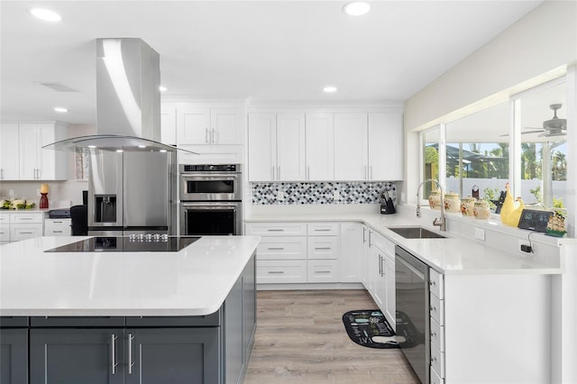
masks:
[[[98,236],[45,252],[178,252],[196,242],[193,236]]]

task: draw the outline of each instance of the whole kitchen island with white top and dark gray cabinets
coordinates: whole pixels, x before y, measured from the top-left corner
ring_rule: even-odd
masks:
[[[1,382],[242,382],[258,237],[203,237],[174,252],[46,252],[82,239],[0,247]]]

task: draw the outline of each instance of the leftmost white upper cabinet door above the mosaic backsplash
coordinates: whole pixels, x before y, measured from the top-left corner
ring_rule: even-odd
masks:
[[[272,181],[277,168],[277,118],[275,114],[249,114],[249,180]]]

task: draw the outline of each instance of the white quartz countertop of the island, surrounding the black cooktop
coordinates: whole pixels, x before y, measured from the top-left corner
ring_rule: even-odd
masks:
[[[178,252],[44,252],[85,236],[0,246],[0,315],[210,315],[258,236],[205,236]]]

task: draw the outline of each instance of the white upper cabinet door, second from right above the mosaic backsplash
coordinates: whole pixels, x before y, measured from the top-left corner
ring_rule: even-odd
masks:
[[[367,114],[334,114],[334,179],[365,180]]]

